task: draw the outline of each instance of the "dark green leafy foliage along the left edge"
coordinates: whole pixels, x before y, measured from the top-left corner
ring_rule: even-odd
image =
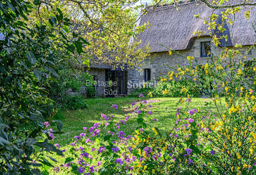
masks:
[[[57,48],[67,48],[73,41],[83,45],[84,41],[79,37],[67,41],[62,29],[69,28],[69,20],[59,10],[48,16],[47,22],[28,26],[28,15],[38,2],[0,2],[0,32],[5,36],[0,40],[0,174],[38,174],[37,167],[46,162],[43,158],[32,162],[35,145],[62,155],[48,139],[36,139],[49,132],[42,105],[52,103],[47,88],[58,76],[56,64],[63,59]],[[58,39],[56,33],[61,34]],[[60,132],[61,122],[52,116],[49,120]]]

